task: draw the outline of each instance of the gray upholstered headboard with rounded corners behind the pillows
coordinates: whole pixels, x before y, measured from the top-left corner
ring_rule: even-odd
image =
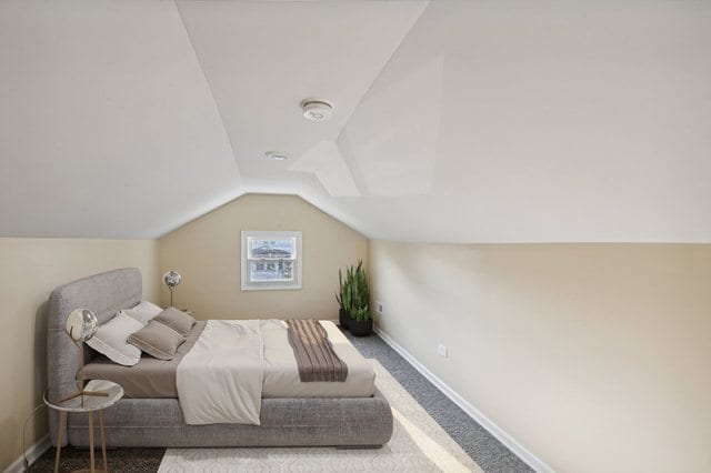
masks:
[[[108,271],[52,291],[47,319],[47,383],[52,399],[61,399],[76,391],[74,379],[81,366],[81,356],[86,355],[80,353],[64,333],[67,315],[74,309],[89,309],[97,315],[99,323],[104,323],[117,311],[138,304],[142,295],[141,272],[138,268]],[[57,412],[50,410],[49,434],[52,444],[57,444],[58,420]],[[62,443],[67,444],[66,432],[62,433]]]

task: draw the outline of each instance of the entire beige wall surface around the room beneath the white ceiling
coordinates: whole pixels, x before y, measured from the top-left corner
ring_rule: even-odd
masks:
[[[241,230],[301,230],[303,289],[240,291]],[[330,319],[338,268],[359,258],[384,332],[555,470],[711,471],[711,245],[369,243],[299,198],[261,194],[160,241],[0,239],[0,467],[41,401],[54,286],[134,265],[166,303],[160,274],[176,269],[176,305],[200,319]]]

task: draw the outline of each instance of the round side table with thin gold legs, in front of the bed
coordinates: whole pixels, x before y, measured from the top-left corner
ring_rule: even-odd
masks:
[[[99,430],[101,432],[101,453],[103,456],[103,470],[107,469],[107,444],[103,439],[103,410],[112,406],[121,397],[123,397],[123,388],[119,384],[106,380],[92,380],[87,383],[83,389],[84,394],[54,401],[44,395],[44,403],[59,411],[59,432],[57,434],[57,454],[54,455],[54,473],[59,472],[59,457],[61,455],[62,427],[68,412],[87,412],[89,413],[89,452],[91,457],[91,469],[82,470],[96,472],[93,456],[93,412],[99,411]]]

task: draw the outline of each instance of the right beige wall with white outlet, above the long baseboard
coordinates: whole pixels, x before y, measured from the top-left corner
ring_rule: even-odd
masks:
[[[711,471],[711,245],[371,241],[369,262],[384,332],[553,469]]]

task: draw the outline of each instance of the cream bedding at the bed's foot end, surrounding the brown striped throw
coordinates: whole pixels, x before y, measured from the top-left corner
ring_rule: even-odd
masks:
[[[320,323],[328,332],[333,350],[348,365],[346,381],[302,383],[289,344],[287,323],[281,320],[263,320],[260,324],[264,341],[262,397],[368,397],[373,394],[373,368],[333,322]]]

